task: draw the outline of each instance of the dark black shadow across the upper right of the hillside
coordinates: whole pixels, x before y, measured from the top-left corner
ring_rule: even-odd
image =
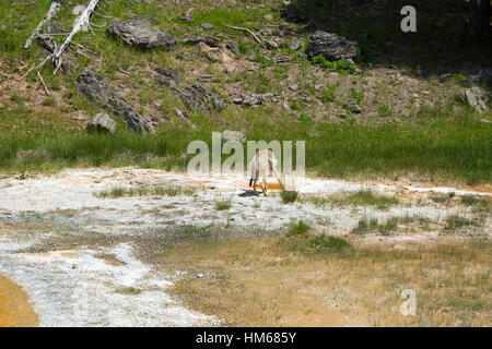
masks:
[[[403,33],[405,5],[417,9],[417,33]],[[410,68],[420,76],[471,72],[492,64],[490,26],[477,40],[468,35],[465,0],[292,0],[281,8],[288,22],[307,24],[359,43],[359,62]]]

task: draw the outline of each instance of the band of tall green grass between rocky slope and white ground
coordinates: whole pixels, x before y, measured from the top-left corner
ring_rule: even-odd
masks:
[[[415,124],[366,127],[308,124],[282,116],[268,120],[269,109],[242,110],[249,120],[248,140],[306,140],[306,167],[314,174],[366,179],[418,176],[430,181],[491,182],[491,125],[471,117],[425,119]],[[437,113],[436,117],[442,116]],[[233,122],[241,122],[232,119]],[[24,106],[0,108],[0,168],[2,171],[46,171],[77,166],[128,166],[186,169],[186,148],[192,140],[211,143],[220,120],[195,113],[198,131],[161,128],[153,135],[120,131],[87,134],[54,115],[37,120]],[[312,136],[316,130],[317,135]],[[17,153],[38,151],[42,157],[19,160]],[[368,197],[372,200],[371,197]]]

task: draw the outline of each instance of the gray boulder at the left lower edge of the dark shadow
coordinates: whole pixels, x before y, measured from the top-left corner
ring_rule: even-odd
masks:
[[[361,50],[358,43],[349,41],[343,36],[317,31],[311,36],[306,53],[309,59],[321,55],[327,60],[336,61],[342,58],[355,58],[361,53]]]

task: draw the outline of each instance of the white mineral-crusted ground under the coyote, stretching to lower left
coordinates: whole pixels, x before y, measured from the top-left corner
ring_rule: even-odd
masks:
[[[175,196],[151,192],[101,195],[115,188],[176,185],[191,190]],[[220,325],[220,318],[190,311],[168,296],[166,289],[179,281],[180,270],[163,274],[154,268],[156,246],[172,243],[183,231],[211,225],[237,234],[276,234],[302,218],[315,228],[347,234],[361,216],[418,216],[433,221],[454,214],[472,218],[469,208],[435,205],[429,195],[492,194],[488,188],[327,179],[297,180],[292,185],[305,195],[330,196],[364,189],[405,200],[387,209],[284,204],[274,192],[270,197],[253,196],[241,176],[210,179],[153,169],[71,169],[54,176],[10,177],[0,180],[0,274],[25,290],[42,326]],[[218,209],[218,202],[229,202],[231,207]],[[479,232],[490,234],[490,217]],[[437,236],[430,230],[374,239]]]

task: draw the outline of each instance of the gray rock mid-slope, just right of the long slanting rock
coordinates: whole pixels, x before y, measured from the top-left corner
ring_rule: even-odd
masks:
[[[226,106],[226,101],[221,96],[198,84],[185,88],[173,87],[172,91],[188,109],[210,112],[223,109]]]

